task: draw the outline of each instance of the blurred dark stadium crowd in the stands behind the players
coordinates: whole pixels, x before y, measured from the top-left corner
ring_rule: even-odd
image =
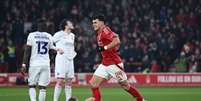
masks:
[[[52,35],[63,18],[71,19],[75,71],[94,71],[100,54],[90,17],[98,12],[121,38],[127,72],[201,72],[200,0],[3,0],[0,5],[0,72],[18,71],[26,37],[40,18]]]

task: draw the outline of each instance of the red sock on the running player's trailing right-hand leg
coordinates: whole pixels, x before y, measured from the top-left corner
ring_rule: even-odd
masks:
[[[136,97],[137,101],[142,101],[143,97],[140,94],[140,92],[134,87],[134,86],[130,86],[128,92],[133,96]]]

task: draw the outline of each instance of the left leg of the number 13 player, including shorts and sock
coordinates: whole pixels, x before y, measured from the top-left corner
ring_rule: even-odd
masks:
[[[29,97],[31,101],[36,101],[36,84],[39,78],[40,69],[37,67],[29,68]]]

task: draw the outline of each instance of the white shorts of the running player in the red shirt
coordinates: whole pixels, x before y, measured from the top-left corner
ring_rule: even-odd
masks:
[[[123,63],[120,63],[118,65],[123,68]],[[115,64],[109,65],[109,66],[100,64],[98,68],[96,69],[94,75],[105,78],[105,79],[109,79],[110,77],[113,77],[118,82],[127,80],[126,73]]]

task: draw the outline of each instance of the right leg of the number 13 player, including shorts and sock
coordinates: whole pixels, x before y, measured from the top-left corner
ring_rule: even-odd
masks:
[[[39,76],[39,101],[45,101],[46,98],[46,86],[50,82],[50,68],[49,67],[41,67],[40,76]]]

